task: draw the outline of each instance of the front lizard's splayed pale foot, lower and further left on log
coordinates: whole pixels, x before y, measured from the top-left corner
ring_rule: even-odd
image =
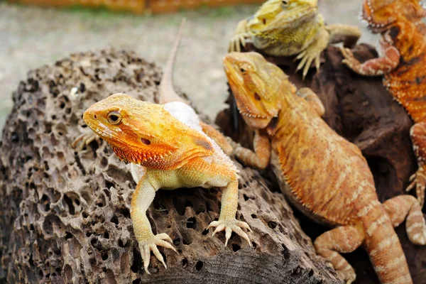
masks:
[[[167,269],[167,266],[165,265],[165,262],[164,262],[164,258],[161,255],[160,251],[158,251],[157,246],[164,246],[165,248],[173,249],[173,251],[178,253],[178,251],[176,251],[176,249],[167,241],[170,241],[170,243],[173,243],[172,239],[170,239],[170,236],[168,236],[168,234],[165,234],[165,233],[152,235],[149,239],[146,239],[146,240],[143,240],[143,239],[138,240],[139,249],[141,250],[141,256],[143,260],[143,268],[145,268],[146,273],[151,274],[148,271],[149,260],[151,258],[151,251],[153,251],[154,256],[161,263],[163,263],[163,266]]]

